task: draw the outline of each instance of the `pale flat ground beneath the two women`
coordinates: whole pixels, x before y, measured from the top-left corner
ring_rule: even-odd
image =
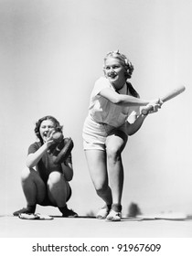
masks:
[[[1,238],[192,238],[192,219],[27,220],[0,216]]]

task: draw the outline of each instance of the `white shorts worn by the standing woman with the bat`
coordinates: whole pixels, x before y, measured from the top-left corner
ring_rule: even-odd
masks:
[[[126,134],[125,123],[120,127],[114,127],[106,123],[96,123],[91,116],[85,119],[82,131],[84,150],[105,150],[107,136],[113,131],[122,131]]]

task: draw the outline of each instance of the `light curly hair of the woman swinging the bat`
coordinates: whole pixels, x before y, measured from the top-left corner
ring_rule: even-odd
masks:
[[[119,50],[110,51],[107,53],[106,57],[104,58],[104,62],[109,58],[119,59],[119,61],[121,62],[121,64],[125,69],[126,79],[131,79],[133,74],[133,69],[134,69],[133,64],[129,59],[126,58],[124,54],[120,53]],[[105,73],[104,67],[103,67],[103,71]]]

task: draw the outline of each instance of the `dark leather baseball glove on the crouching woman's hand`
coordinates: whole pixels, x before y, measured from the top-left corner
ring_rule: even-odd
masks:
[[[73,146],[74,144],[70,137],[64,138],[63,147],[60,149],[59,154],[54,159],[54,164],[58,165],[58,164],[64,163],[69,157],[71,150],[73,149]]]

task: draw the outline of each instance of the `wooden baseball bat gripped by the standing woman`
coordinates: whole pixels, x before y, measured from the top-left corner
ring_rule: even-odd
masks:
[[[160,98],[160,100],[163,101],[163,102],[169,101],[169,100],[175,98],[177,95],[179,95],[180,93],[182,93],[185,90],[186,90],[186,87],[184,85],[181,85],[181,86],[177,87],[176,89],[167,92],[162,98]],[[149,106],[147,106],[146,108],[144,108],[142,110],[142,113],[144,115],[146,115],[151,110],[153,110],[153,106],[149,105]]]

